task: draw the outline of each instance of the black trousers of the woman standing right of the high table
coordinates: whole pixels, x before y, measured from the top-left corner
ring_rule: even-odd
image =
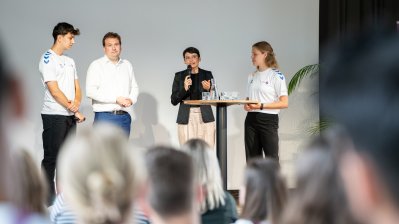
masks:
[[[245,156],[266,157],[279,160],[278,157],[278,115],[249,112],[245,118]]]

